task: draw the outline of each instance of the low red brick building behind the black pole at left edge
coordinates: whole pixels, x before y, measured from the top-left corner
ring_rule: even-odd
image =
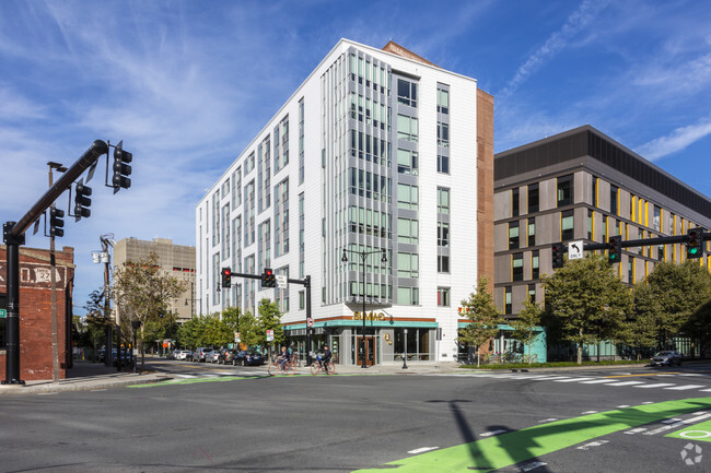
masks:
[[[56,251],[59,377],[71,366],[71,297],[74,249]],[[7,314],[7,247],[0,245],[0,315]],[[20,379],[51,379],[51,293],[49,250],[20,248]],[[69,322],[68,322],[69,320]],[[5,378],[7,318],[0,317],[0,379]]]

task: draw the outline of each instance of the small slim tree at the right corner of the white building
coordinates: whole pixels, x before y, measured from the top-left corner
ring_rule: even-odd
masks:
[[[462,308],[469,319],[467,326],[459,329],[459,341],[477,348],[477,366],[479,366],[479,348],[499,333],[501,315],[493,303],[493,297],[487,288],[488,281],[479,279],[476,292],[468,299],[462,300]]]

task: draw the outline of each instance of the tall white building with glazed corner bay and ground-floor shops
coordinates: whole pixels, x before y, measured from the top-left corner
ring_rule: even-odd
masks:
[[[311,279],[310,348],[327,342],[341,364],[401,362],[406,344],[410,360],[454,360],[458,301],[493,280],[493,99],[395,43],[341,39],[197,204],[196,223],[205,311],[276,300],[305,353],[303,285],[220,287],[221,268],[270,268]]]

